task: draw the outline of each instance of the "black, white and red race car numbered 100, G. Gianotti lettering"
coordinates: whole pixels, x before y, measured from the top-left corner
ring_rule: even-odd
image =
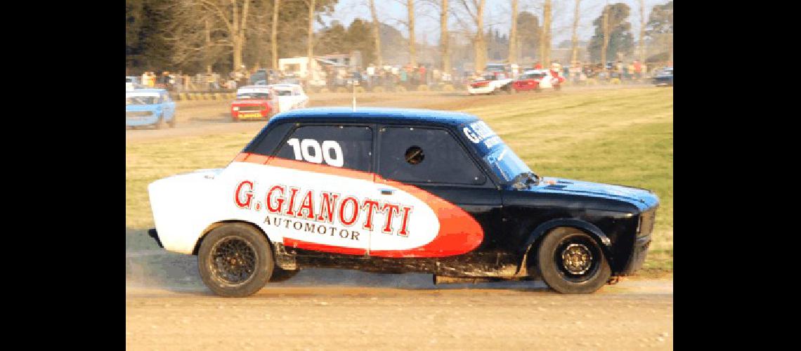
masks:
[[[642,267],[658,197],[535,174],[464,113],[278,114],[223,169],[148,185],[156,243],[198,257],[224,297],[306,267],[542,279],[592,293]]]

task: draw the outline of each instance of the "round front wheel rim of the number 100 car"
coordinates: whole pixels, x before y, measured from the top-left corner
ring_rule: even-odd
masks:
[[[559,274],[572,282],[587,281],[600,267],[601,249],[585,235],[565,237],[553,252],[553,263]]]

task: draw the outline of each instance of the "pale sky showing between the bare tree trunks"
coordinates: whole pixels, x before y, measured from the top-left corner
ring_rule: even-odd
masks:
[[[378,14],[379,22],[386,23],[398,28],[401,33],[406,36],[406,27],[400,23],[399,20],[405,21],[406,13],[406,0],[375,0],[376,12]],[[626,0],[626,1],[607,1],[607,0],[582,0],[580,5],[580,20],[578,24],[578,40],[590,40],[594,33],[592,22],[595,18],[601,15],[603,7],[609,3],[614,4],[624,2],[631,8],[631,15],[629,22],[631,23],[634,39],[636,40],[639,35],[640,29],[640,5],[639,0]],[[668,0],[645,0],[646,7],[646,21],[650,14],[650,10],[654,5],[662,5],[667,3]],[[518,11],[529,11],[540,19],[542,22],[542,4],[543,0],[518,0]],[[461,4],[457,2],[450,2],[452,9],[458,8]],[[551,43],[557,46],[564,40],[570,40],[573,30],[573,19],[576,2],[574,0],[553,0],[551,1],[553,26]],[[509,13],[512,10],[510,0],[486,0],[485,9],[485,26],[492,26],[493,30],[497,29],[501,34],[509,34],[510,19]],[[424,1],[417,0],[415,6],[415,35],[417,42],[428,42],[429,44],[436,44],[439,41],[440,22],[437,10],[431,6],[426,6]],[[348,26],[354,18],[364,18],[370,20],[370,7],[368,0],[340,0],[334,9],[332,16],[323,16],[323,21],[328,23],[334,20],[342,22]],[[461,26],[451,19],[449,29],[457,30]]]

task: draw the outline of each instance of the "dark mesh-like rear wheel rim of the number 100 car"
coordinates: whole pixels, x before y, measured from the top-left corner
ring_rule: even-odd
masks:
[[[211,248],[211,274],[226,285],[243,285],[256,273],[256,249],[239,237],[226,237]]]

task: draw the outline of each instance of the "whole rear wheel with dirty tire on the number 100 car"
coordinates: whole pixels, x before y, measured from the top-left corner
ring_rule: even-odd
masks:
[[[211,230],[198,251],[203,283],[222,297],[247,297],[272,277],[272,249],[258,229],[228,223]]]

